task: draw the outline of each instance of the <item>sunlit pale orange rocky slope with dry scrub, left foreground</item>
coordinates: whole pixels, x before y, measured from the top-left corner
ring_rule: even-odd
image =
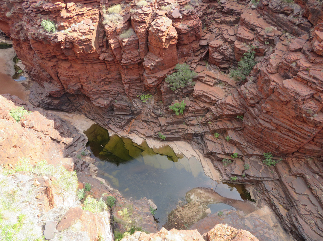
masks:
[[[20,107],[30,112],[16,121],[10,111]],[[9,231],[19,225],[14,229],[18,240],[43,235],[53,240],[113,240],[110,210],[85,211],[76,196],[73,157],[84,150],[86,137],[54,114],[7,94],[0,95],[0,123],[0,196],[8,200],[1,204],[1,226]]]

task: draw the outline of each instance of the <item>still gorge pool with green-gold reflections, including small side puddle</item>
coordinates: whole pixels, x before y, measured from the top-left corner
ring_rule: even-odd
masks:
[[[194,157],[178,158],[169,146],[153,150],[146,142],[137,145],[117,135],[109,137],[107,130],[96,124],[85,134],[89,138],[87,148],[92,152],[91,157],[96,159],[98,176],[106,179],[125,198],[152,199],[158,208],[155,218],[161,225],[192,188],[213,188],[224,197],[245,199],[235,187],[217,183],[206,176],[201,163]],[[242,190],[243,186],[239,188]],[[216,206],[210,207],[213,210]],[[225,205],[225,209],[233,207]]]

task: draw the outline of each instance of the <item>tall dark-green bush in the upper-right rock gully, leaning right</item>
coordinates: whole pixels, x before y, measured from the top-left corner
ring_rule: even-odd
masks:
[[[234,78],[234,80],[245,80],[245,78],[249,75],[251,70],[256,64],[255,61],[255,51],[253,51],[253,47],[249,49],[248,52],[244,53],[243,58],[238,63],[238,68],[236,70],[230,71],[230,77]]]

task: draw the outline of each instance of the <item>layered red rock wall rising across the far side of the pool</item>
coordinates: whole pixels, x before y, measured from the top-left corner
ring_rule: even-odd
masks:
[[[322,4],[140,2],[1,1],[0,29],[35,81],[29,100],[80,110],[112,130],[190,141],[224,180],[253,184],[257,204],[271,206],[295,237],[322,239]],[[57,31],[45,31],[43,19]],[[235,82],[227,69],[251,46],[258,63]],[[184,62],[196,84],[173,92],[164,78]],[[142,93],[153,100],[142,103]],[[186,110],[174,116],[168,106],[182,100]],[[283,161],[266,167],[269,151]],[[239,158],[224,167],[233,153]]]

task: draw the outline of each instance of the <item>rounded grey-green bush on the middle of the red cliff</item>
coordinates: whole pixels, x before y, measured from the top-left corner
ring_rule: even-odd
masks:
[[[190,66],[186,63],[176,64],[174,67],[177,72],[167,75],[165,78],[166,83],[171,86],[171,90],[175,91],[179,88],[184,88],[186,85],[194,85],[193,79],[196,77],[196,73],[190,70]]]

